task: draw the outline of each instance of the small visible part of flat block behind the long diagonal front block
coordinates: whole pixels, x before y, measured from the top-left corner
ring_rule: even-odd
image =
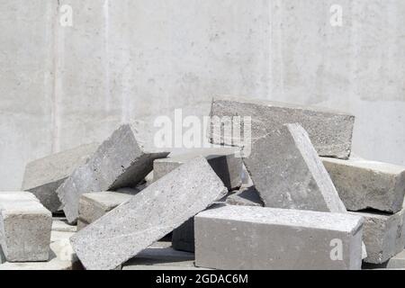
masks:
[[[127,202],[136,193],[97,192],[84,193],[79,201],[77,229],[84,229],[107,212]]]

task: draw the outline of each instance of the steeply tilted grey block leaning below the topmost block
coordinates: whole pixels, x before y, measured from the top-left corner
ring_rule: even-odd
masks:
[[[329,174],[299,124],[258,139],[244,158],[267,207],[346,212]]]

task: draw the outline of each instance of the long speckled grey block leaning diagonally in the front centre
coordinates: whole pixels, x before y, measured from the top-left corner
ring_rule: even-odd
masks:
[[[150,184],[71,238],[87,269],[113,269],[228,192],[204,157]]]

